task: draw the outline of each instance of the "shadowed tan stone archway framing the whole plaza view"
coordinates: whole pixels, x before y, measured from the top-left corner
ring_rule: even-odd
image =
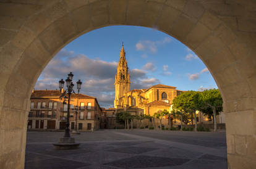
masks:
[[[223,96],[229,168],[256,168],[255,9],[254,0],[1,1],[0,168],[24,167],[30,94],[49,60],[109,25],[156,28],[192,49]]]

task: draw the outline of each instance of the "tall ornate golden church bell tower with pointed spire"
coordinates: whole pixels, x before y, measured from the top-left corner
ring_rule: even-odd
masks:
[[[114,107],[117,108],[117,105],[121,105],[119,98],[130,91],[130,73],[126,62],[126,51],[124,51],[124,44],[122,44],[122,49],[120,51],[120,59],[117,65],[114,85],[116,88]]]

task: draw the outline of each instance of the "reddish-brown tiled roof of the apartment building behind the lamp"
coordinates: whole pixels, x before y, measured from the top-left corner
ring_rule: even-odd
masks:
[[[31,97],[47,97],[47,96],[61,96],[61,92],[59,90],[35,90],[31,94]],[[93,96],[87,96],[85,94],[71,94],[71,97],[80,97],[80,98],[90,98],[95,99]]]

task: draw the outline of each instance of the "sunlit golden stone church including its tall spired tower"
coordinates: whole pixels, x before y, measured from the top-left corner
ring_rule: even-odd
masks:
[[[170,112],[174,97],[184,92],[176,89],[174,86],[161,84],[153,85],[148,89],[130,90],[130,83],[126,52],[122,45],[114,83],[114,108],[126,110],[137,108],[140,112],[147,115],[153,115],[158,110],[164,109]]]

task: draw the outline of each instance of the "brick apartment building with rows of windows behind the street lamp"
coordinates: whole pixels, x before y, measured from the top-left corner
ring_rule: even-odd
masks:
[[[28,129],[64,130],[67,120],[67,100],[60,99],[59,90],[33,90],[30,97]],[[93,96],[71,94],[70,96],[70,129],[81,131],[98,130],[100,128],[101,107]]]

